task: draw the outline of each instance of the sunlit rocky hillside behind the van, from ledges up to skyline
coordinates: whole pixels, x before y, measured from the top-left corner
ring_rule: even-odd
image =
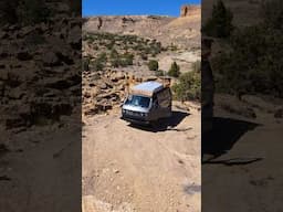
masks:
[[[83,59],[83,115],[112,109],[132,85],[167,75],[172,62],[181,73],[193,70],[200,61],[200,8],[191,6],[180,18],[86,18]],[[148,68],[151,60],[158,61],[157,72]]]

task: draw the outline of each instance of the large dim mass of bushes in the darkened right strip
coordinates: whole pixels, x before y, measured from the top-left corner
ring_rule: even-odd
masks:
[[[273,0],[277,7],[271,10],[266,3],[262,7],[263,22],[235,30],[229,40],[231,51],[212,59],[217,91],[238,98],[243,94],[283,97],[283,28],[279,21],[283,4]]]

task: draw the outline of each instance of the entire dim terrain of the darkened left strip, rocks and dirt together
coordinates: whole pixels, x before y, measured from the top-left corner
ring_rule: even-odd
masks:
[[[82,23],[48,7],[46,21],[0,28],[1,211],[81,208]]]

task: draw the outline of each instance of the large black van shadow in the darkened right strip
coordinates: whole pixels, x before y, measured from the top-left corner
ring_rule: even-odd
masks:
[[[232,118],[214,117],[212,131],[201,135],[201,153],[220,157],[230,151],[240,138],[250,130],[254,130],[259,124]],[[258,161],[258,160],[254,160]]]

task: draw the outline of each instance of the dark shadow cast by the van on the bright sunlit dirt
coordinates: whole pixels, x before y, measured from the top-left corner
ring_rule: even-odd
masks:
[[[155,125],[151,126],[144,126],[144,125],[137,125],[137,124],[129,124],[129,127],[134,127],[140,130],[151,131],[151,132],[158,132],[158,131],[167,131],[167,130],[176,130],[176,131],[187,131],[191,128],[176,128],[187,116],[189,116],[189,113],[186,112],[172,112],[171,117],[169,118],[163,118],[159,119]]]

